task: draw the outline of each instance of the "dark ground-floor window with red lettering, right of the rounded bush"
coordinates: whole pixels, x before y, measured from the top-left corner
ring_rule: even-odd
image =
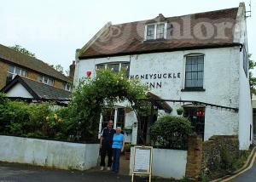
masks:
[[[205,108],[184,106],[183,117],[187,117],[196,134],[204,139],[205,134]]]

